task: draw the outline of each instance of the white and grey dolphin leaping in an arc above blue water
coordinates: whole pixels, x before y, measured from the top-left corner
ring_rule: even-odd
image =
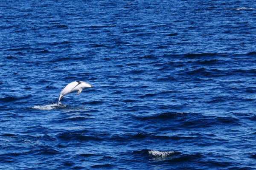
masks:
[[[76,95],[78,95],[79,93],[81,93],[81,91],[83,89],[92,88],[92,87],[93,86],[89,85],[87,82],[82,82],[82,81],[70,82],[70,84],[66,85],[61,90],[61,93],[60,93],[59,98],[58,98],[58,105],[59,105],[59,103],[61,101],[61,98],[63,96],[66,96],[67,94],[74,93],[74,92],[77,92]]]

